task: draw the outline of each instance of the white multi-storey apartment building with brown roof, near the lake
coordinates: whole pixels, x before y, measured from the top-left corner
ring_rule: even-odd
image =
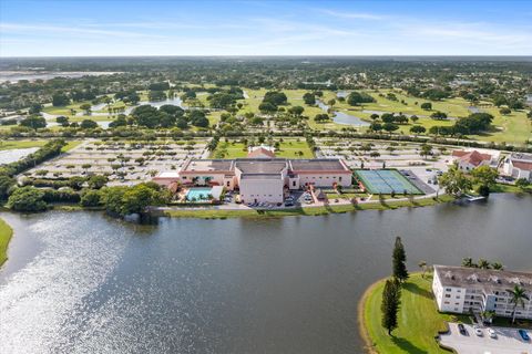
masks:
[[[509,289],[524,288],[530,301],[515,309],[516,319],[532,319],[532,273],[434,266],[432,292],[438,310],[454,313],[494,311],[510,317],[513,311]]]

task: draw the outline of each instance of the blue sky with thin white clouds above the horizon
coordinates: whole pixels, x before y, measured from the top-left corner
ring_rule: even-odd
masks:
[[[532,55],[532,0],[0,0],[0,58]]]

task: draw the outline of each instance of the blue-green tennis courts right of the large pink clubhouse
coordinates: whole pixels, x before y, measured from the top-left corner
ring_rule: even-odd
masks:
[[[355,175],[371,194],[423,194],[396,169],[357,169]]]

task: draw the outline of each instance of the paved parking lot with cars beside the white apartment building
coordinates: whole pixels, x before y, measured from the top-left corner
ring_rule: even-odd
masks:
[[[458,354],[532,354],[531,342],[524,342],[515,329],[492,327],[497,333],[497,339],[492,339],[488,335],[488,329],[483,329],[483,335],[478,336],[472,325],[464,326],[468,335],[460,334],[457,323],[449,323],[450,332],[440,336],[441,344]],[[531,331],[528,332],[530,334]]]

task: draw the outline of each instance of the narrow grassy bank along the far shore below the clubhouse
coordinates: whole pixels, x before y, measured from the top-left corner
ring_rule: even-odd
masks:
[[[329,205],[325,207],[291,208],[278,210],[227,210],[227,209],[173,209],[165,211],[166,216],[174,218],[201,218],[201,219],[225,219],[241,217],[285,217],[285,216],[318,216],[336,212],[349,212],[357,210],[391,210],[398,208],[417,208],[432,206],[439,202],[453,200],[451,196],[440,196],[438,199],[423,198],[400,201],[368,202],[359,205]]]

